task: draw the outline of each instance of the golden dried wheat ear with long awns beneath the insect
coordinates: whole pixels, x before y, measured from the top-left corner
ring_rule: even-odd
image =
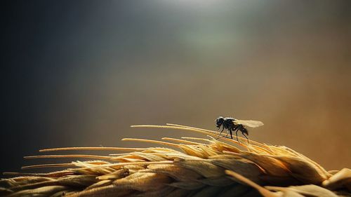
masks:
[[[185,125],[135,125],[190,130],[208,139],[130,139],[169,146],[150,148],[69,147],[41,151],[131,151],[109,156],[51,154],[25,158],[93,158],[25,166],[67,166],[49,173],[5,172],[0,196],[351,196],[351,170],[327,172],[318,163],[287,147],[225,137]],[[211,137],[213,136],[213,137]],[[174,143],[175,142],[175,143]],[[245,143],[244,143],[245,142]],[[240,147],[240,148],[238,148]],[[176,150],[177,149],[177,150]]]

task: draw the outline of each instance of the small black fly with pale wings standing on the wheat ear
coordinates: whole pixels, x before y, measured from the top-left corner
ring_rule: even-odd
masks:
[[[251,127],[251,128],[256,128],[261,125],[263,125],[263,122],[261,121],[244,121],[244,120],[238,120],[235,118],[225,118],[223,116],[219,116],[216,119],[216,126],[218,127],[218,130],[222,126],[222,130],[220,131],[220,135],[222,134],[223,130],[226,129],[230,133],[230,137],[233,139],[232,132],[235,131],[235,135],[237,135],[237,141],[238,140],[238,130],[241,131],[242,135],[246,137],[246,135],[249,135],[246,126]],[[246,134],[246,135],[245,135]],[[249,141],[249,138],[246,137],[246,139]]]

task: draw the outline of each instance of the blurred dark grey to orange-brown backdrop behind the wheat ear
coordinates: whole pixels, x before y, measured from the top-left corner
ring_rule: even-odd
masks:
[[[1,172],[65,162],[22,158],[49,147],[200,137],[129,125],[214,130],[220,115],[263,121],[251,140],[351,167],[350,1],[1,4]]]

